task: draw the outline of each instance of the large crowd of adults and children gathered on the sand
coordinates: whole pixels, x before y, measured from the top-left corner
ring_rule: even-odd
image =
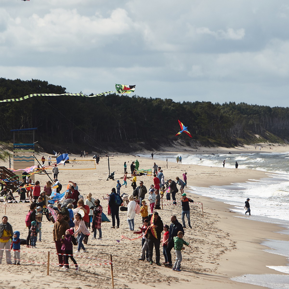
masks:
[[[152,156],[153,157],[153,156]],[[179,158],[180,160],[180,158]],[[43,161],[43,160],[42,160]],[[45,160],[44,160],[45,161]],[[137,185],[139,162],[136,160],[130,165],[131,170],[131,193],[123,192],[121,188],[127,188],[127,165],[124,163],[124,177],[123,184],[119,180],[116,186],[111,189],[103,199],[107,201],[108,215],[112,218],[111,229],[119,229],[120,218],[119,210],[124,208],[127,211],[127,224],[129,230],[134,234],[142,234],[142,242],[140,247],[140,261],[147,260],[149,264],[161,266],[160,263],[160,245],[162,244],[162,254],[164,257],[163,264],[172,267],[175,271],[181,271],[180,264],[182,260],[181,250],[183,245],[189,246],[189,243],[183,239],[185,234],[184,228],[185,216],[187,218],[188,227],[190,223],[190,206],[192,199],[186,196],[184,188],[187,185],[187,173],[183,173],[183,180],[179,177],[167,179],[164,181],[164,171],[156,163],[153,164],[153,184],[149,186],[144,185],[144,181],[140,180]],[[42,219],[46,216],[47,221],[52,221],[53,225],[53,241],[55,242],[55,249],[58,253],[59,267],[64,270],[69,270],[68,259],[70,258],[75,266],[75,270],[79,270],[79,266],[75,261],[73,254],[86,252],[85,245],[88,243],[90,233],[93,233],[92,239],[97,238],[102,240],[102,214],[103,207],[99,199],[94,199],[89,193],[83,197],[78,190],[77,183],[69,181],[64,196],[62,198],[55,198],[55,195],[61,193],[62,184],[57,179],[58,167],[53,167],[54,171],[54,186],[52,182],[47,181],[42,188],[40,182],[35,184],[29,182],[27,176],[23,176],[23,184],[18,189],[18,194],[22,197],[20,199],[31,199],[29,211],[25,218],[25,224],[28,228],[26,238],[26,247],[37,249],[37,242],[42,241]],[[179,186],[179,189],[178,189]],[[171,216],[171,224],[164,225],[161,218],[161,199],[166,192],[166,199],[172,198],[173,204],[176,204],[176,194],[181,192],[182,224],[178,222],[177,216]],[[4,188],[1,194],[8,195],[9,190]],[[12,193],[13,196],[13,193]],[[149,207],[147,205],[149,204]],[[139,231],[135,231],[134,218],[137,214],[142,217],[142,226],[138,227]],[[163,234],[163,235],[162,235]],[[10,251],[5,251],[6,262],[8,264],[20,264],[20,233],[12,230],[8,223],[8,218],[3,216],[2,224],[0,224],[0,249],[13,250],[13,263],[11,262]],[[12,239],[12,242],[10,242]],[[161,241],[162,239],[162,241]],[[77,249],[73,252],[73,245]],[[171,250],[175,249],[176,260],[173,264]],[[153,251],[155,251],[155,260],[153,260]],[[2,261],[3,250],[0,250],[0,264]]]

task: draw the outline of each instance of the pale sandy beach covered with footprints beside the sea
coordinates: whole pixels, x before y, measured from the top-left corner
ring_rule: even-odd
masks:
[[[265,146],[262,152],[289,151],[287,146]],[[187,153],[246,153],[255,151],[255,146],[227,148],[197,148]],[[257,147],[258,149],[258,147]],[[197,152],[196,152],[197,151]],[[176,152],[184,152],[177,147]],[[143,152],[142,152],[143,153]],[[157,152],[158,154],[160,152]],[[136,157],[138,153],[123,155],[113,153],[110,157],[110,171],[115,171],[115,181],[108,180],[108,161],[102,157],[96,170],[63,170],[60,166],[58,179],[63,185],[63,190],[68,181],[78,184],[80,193],[85,197],[91,192],[93,198],[99,198],[103,206],[103,212],[107,214],[107,203],[102,199],[111,188],[116,186],[116,180],[123,177],[123,163],[127,162],[128,168],[132,161],[138,159],[140,168],[152,168],[155,161],[164,170],[165,179],[175,179],[182,173],[188,173],[188,188],[185,192],[195,201],[203,203],[204,218],[200,205],[191,205],[190,218],[192,229],[185,229],[184,239],[191,244],[191,249],[186,247],[183,252],[182,272],[174,272],[171,268],[158,267],[155,264],[138,261],[141,251],[141,240],[121,240],[121,235],[133,238],[128,229],[126,212],[120,212],[120,228],[111,229],[111,223],[102,223],[103,240],[91,240],[89,237],[86,249],[88,253],[76,257],[80,270],[74,272],[70,269],[63,272],[50,265],[50,274],[47,276],[46,264],[47,252],[50,251],[50,262],[57,263],[57,256],[52,239],[52,223],[43,218],[42,242],[37,242],[38,249],[28,249],[21,246],[21,266],[6,265],[4,260],[1,266],[2,288],[111,288],[110,266],[97,265],[105,263],[112,254],[114,270],[114,288],[168,288],[168,286],[182,286],[182,288],[264,288],[260,286],[243,284],[231,281],[231,277],[246,274],[278,274],[266,265],[282,266],[286,264],[286,257],[273,255],[262,251],[265,247],[260,245],[263,240],[277,239],[289,240],[288,235],[275,233],[280,229],[278,225],[252,221],[249,217],[239,218],[240,214],[231,212],[230,206],[216,200],[201,197],[190,190],[189,186],[224,185],[235,182],[245,182],[248,179],[260,179],[266,177],[262,171],[249,169],[228,169],[223,167],[205,167],[197,165],[185,165],[151,158]],[[37,154],[40,160],[43,154]],[[48,154],[44,154],[47,158]],[[79,158],[79,155],[71,155],[71,159]],[[92,158],[92,155],[89,155]],[[1,166],[9,166],[7,162],[1,162]],[[47,165],[47,162],[45,163]],[[50,175],[51,176],[51,175]],[[48,181],[47,175],[36,175],[40,186]],[[153,183],[153,177],[142,176],[139,180],[149,188]],[[121,180],[122,181],[122,180]],[[121,182],[122,184],[122,182]],[[128,187],[121,188],[121,193],[131,193],[132,188],[128,180]],[[16,196],[16,194],[14,194]],[[180,192],[176,195],[180,199]],[[165,197],[164,197],[165,198]],[[146,196],[147,200],[147,196]],[[244,200],[245,201],[245,200]],[[181,221],[181,206],[173,206],[171,202],[163,202],[163,210],[158,210],[164,224],[170,225],[172,214],[176,214]],[[21,233],[21,238],[26,239],[25,215],[29,204],[11,204],[6,208],[8,222],[13,230]],[[4,214],[4,206],[0,203],[0,212]],[[110,216],[108,216],[110,218]],[[111,219],[111,218],[110,218]],[[186,219],[185,219],[186,220]],[[135,217],[135,229],[142,225],[140,215]],[[81,257],[83,256],[83,257]],[[174,259],[175,253],[172,251]],[[90,259],[99,258],[101,260]],[[164,259],[161,252],[161,262]],[[72,267],[72,266],[71,266]]]

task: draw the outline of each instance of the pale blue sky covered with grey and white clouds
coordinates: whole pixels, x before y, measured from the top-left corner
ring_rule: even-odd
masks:
[[[1,0],[0,77],[289,106],[288,1]]]

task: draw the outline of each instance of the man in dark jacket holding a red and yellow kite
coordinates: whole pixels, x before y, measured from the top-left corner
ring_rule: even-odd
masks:
[[[149,264],[153,264],[153,247],[155,247],[155,264],[161,266],[160,263],[160,242],[161,234],[164,230],[164,223],[159,216],[158,212],[154,212],[153,224],[155,225],[155,231],[157,233],[157,238],[151,232],[151,221],[148,223],[147,238],[149,247]]]

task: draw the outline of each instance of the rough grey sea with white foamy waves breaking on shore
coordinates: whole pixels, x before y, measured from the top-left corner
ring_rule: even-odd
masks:
[[[151,155],[140,155],[150,158]],[[156,153],[153,160],[176,162],[179,155]],[[249,179],[245,183],[234,183],[227,186],[210,186],[208,188],[194,187],[190,189],[194,194],[214,198],[232,207],[239,218],[250,218],[268,223],[279,224],[284,227],[280,234],[289,234],[289,152],[284,153],[255,153],[241,154],[183,154],[182,164],[197,164],[200,166],[225,167],[235,169],[238,162],[238,170],[250,168],[265,171],[267,177],[262,179]],[[244,202],[250,198],[251,216],[244,215]],[[264,286],[267,288],[289,289],[289,242],[283,240],[266,240],[262,244],[271,248],[264,251],[283,255],[288,258],[288,266],[271,266],[268,268],[286,274],[246,274],[232,278],[234,281]],[[249,267],[248,267],[249,268]],[[250,272],[248,272],[250,273]]]

